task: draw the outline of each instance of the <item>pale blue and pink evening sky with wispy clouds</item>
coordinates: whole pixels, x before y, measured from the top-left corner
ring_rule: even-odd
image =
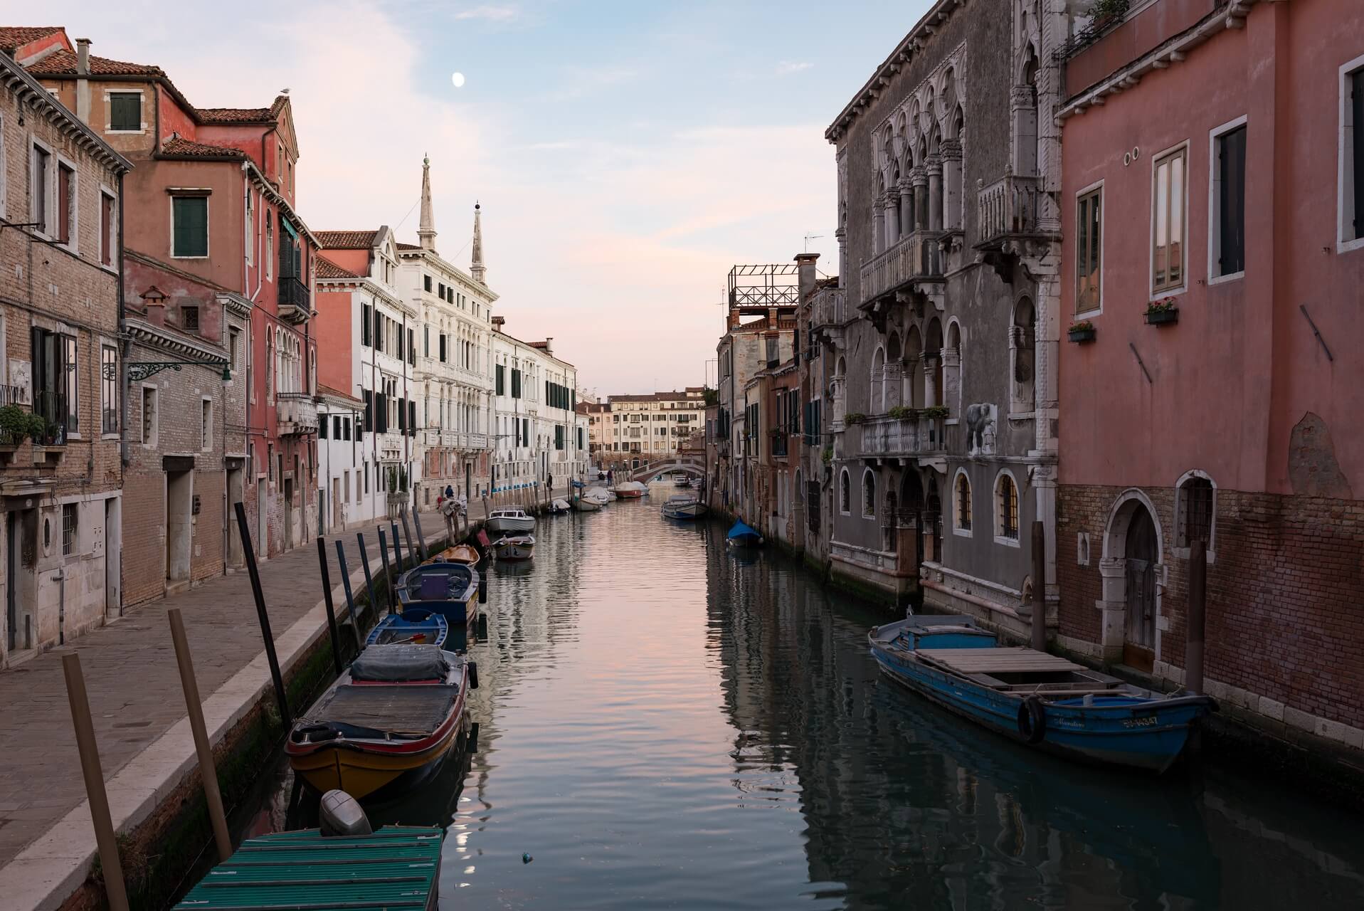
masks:
[[[928,7],[67,0],[3,25],[64,25],[205,108],[289,89],[314,230],[415,243],[430,155],[441,255],[468,267],[480,202],[505,330],[607,395],[713,378],[730,266],[809,248],[836,273],[824,131]]]

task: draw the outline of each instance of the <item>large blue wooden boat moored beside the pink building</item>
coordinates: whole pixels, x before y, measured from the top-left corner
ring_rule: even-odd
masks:
[[[1165,772],[1207,696],[1154,693],[1048,652],[1001,648],[968,616],[913,615],[874,627],[891,679],[992,731],[1101,765]]]

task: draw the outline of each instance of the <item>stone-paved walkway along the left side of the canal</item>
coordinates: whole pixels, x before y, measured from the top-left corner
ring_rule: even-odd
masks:
[[[469,513],[472,520],[481,518],[481,503],[471,503]],[[371,569],[382,571],[376,528],[372,522],[327,537],[333,585],[341,582],[333,541],[345,541],[348,570],[355,573],[360,567],[356,531],[364,532]],[[439,513],[423,511],[421,529],[432,543],[445,535],[445,522]],[[415,528],[412,535],[416,536]],[[390,541],[390,561],[391,552]],[[322,600],[316,544],[310,541],[262,563],[261,588],[278,641]],[[342,600],[338,607],[344,606]],[[0,867],[86,801],[61,672],[63,655],[80,655],[105,780],[184,719],[184,694],[166,619],[172,607],[184,615],[205,700],[263,652],[251,580],[243,570],[134,608],[65,646],[0,671]],[[93,843],[93,832],[90,837]]]

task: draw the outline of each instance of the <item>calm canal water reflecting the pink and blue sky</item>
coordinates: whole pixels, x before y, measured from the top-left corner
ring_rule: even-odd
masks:
[[[1359,817],[986,734],[878,678],[884,610],[670,492],[490,570],[473,749],[367,806],[447,828],[442,908],[1364,907]]]

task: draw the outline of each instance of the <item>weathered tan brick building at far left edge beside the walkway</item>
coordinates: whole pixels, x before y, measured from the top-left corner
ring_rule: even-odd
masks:
[[[0,29],[0,667],[120,610],[119,214],[131,164]]]

